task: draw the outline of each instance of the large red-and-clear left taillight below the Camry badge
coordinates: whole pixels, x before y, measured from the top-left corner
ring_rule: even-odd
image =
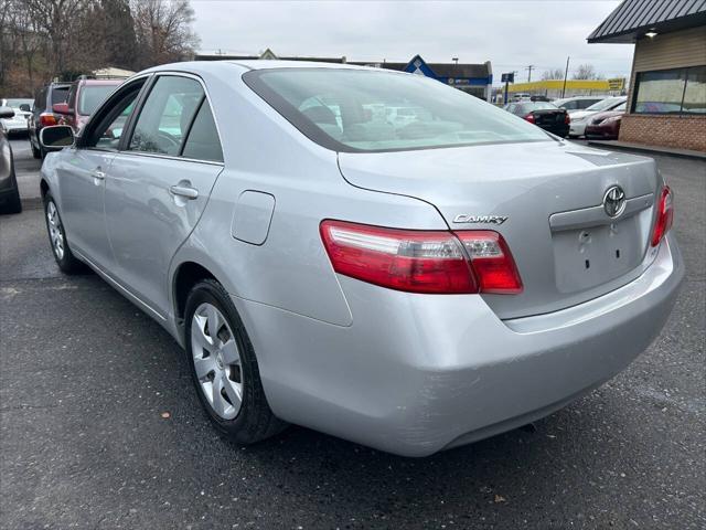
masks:
[[[408,293],[521,293],[502,236],[492,231],[417,231],[323,221],[321,239],[333,269]]]

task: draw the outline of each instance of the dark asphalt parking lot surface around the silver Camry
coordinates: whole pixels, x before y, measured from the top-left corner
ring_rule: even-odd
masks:
[[[649,350],[534,428],[409,459],[301,427],[247,448],[216,434],[160,326],[58,272],[39,163],[12,146],[26,202],[0,218],[0,527],[706,528],[704,161],[657,159],[687,277]]]

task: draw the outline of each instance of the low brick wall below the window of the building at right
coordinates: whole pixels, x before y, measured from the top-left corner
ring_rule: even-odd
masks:
[[[629,114],[622,117],[618,139],[706,152],[706,116]]]

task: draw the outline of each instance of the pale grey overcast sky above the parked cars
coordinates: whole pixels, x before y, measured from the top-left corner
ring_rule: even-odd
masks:
[[[490,61],[494,84],[592,64],[606,77],[628,77],[631,44],[587,44],[618,0],[233,1],[192,0],[201,50],[349,61]]]

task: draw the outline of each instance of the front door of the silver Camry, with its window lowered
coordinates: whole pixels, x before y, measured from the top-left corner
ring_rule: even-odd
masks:
[[[115,259],[105,225],[105,180],[143,83],[138,80],[126,86],[119,97],[111,98],[99,110],[87,136],[56,167],[60,209],[69,245],[106,272]]]

